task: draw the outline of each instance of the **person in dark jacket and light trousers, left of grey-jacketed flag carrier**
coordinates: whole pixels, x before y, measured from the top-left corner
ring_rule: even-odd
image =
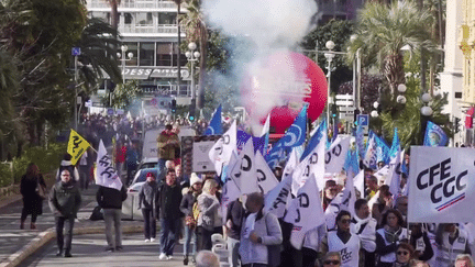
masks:
[[[242,198],[238,198],[228,204],[228,213],[225,216],[225,230],[228,236],[229,264],[231,267],[239,266],[239,246],[242,219],[244,216],[244,208]]]

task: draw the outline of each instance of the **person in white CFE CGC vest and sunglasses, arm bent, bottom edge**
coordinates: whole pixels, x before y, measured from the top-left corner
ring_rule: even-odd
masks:
[[[360,263],[360,236],[350,231],[351,213],[342,210],[336,215],[336,231],[328,232],[321,242],[321,252],[339,252],[342,267],[355,267]]]

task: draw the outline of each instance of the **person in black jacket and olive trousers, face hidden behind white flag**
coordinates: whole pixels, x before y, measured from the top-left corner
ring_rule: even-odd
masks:
[[[122,202],[128,198],[125,187],[122,186],[120,190],[99,186],[96,193],[96,200],[100,208],[103,210],[103,218],[106,222],[106,240],[107,252],[122,251]],[[112,224],[115,231],[115,238],[112,234]]]

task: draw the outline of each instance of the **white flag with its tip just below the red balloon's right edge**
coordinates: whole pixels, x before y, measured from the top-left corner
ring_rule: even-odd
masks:
[[[319,144],[313,151],[296,167],[294,171],[294,181],[291,192],[297,193],[298,189],[302,187],[309,179],[310,175],[317,178],[317,186],[324,188],[324,148],[327,145],[327,134],[320,138]]]

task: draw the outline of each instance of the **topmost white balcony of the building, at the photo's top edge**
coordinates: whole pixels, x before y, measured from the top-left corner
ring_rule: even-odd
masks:
[[[87,9],[92,10],[110,10],[110,4],[106,0],[90,0],[87,1]],[[161,0],[126,0],[122,1],[119,5],[119,12],[131,10],[145,10],[145,11],[176,11],[177,5],[174,1],[161,1]],[[185,8],[184,8],[185,10]]]

